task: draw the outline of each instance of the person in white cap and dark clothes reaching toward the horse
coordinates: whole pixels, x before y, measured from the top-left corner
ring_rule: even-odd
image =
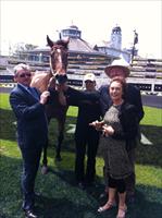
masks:
[[[99,92],[96,90],[96,77],[94,74],[86,74],[84,78],[85,90],[77,90],[67,85],[67,82],[59,85],[63,90],[66,105],[78,107],[78,116],[75,130],[76,159],[75,175],[80,189],[92,185],[96,174],[96,155],[98,149],[99,133],[89,122],[99,119],[101,116]],[[85,155],[87,150],[87,167],[85,170]]]

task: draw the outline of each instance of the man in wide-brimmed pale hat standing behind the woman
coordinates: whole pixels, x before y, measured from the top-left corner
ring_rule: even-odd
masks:
[[[129,75],[129,65],[126,63],[123,59],[121,60],[114,60],[111,65],[108,65],[104,70],[105,74],[112,80],[115,76],[120,76],[122,78],[125,78]],[[109,95],[109,85],[101,86],[100,89],[100,104],[101,104],[101,110],[102,110],[102,116],[105,114],[105,111],[109,109],[109,107],[112,104],[112,100]],[[138,117],[138,123],[140,120],[144,118],[144,109],[142,109],[142,102],[141,102],[141,95],[140,90],[132,85],[126,83],[126,90],[125,90],[125,99],[129,104],[136,106],[136,112]],[[138,134],[140,137],[140,133]],[[127,178],[127,198],[129,202],[134,202],[135,199],[135,182],[136,182],[136,175],[135,175],[135,147],[137,145],[137,138],[134,141],[134,146],[132,149],[129,149],[129,158],[132,160],[132,164],[134,166],[134,171]],[[104,179],[105,179],[105,193],[101,194],[102,196],[107,196],[107,187],[109,184],[109,172],[105,172],[103,168],[103,173],[104,173]]]

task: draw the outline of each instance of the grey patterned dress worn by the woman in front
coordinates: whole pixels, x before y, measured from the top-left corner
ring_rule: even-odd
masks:
[[[111,125],[117,133],[123,131],[119,119],[120,110],[121,106],[111,106],[103,118],[104,123]],[[112,178],[124,179],[132,173],[133,169],[124,140],[101,136],[100,147],[105,161],[105,169]]]

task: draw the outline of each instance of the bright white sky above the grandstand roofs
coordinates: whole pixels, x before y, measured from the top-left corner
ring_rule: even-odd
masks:
[[[122,28],[122,48],[138,33],[138,55],[162,58],[162,0],[0,0],[0,50],[24,43],[46,45],[46,36],[76,25],[90,45],[109,41],[112,28]]]

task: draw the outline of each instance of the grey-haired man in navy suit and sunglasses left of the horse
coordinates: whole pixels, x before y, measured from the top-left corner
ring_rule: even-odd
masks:
[[[17,143],[23,158],[23,209],[26,218],[36,218],[34,187],[41,149],[48,138],[45,104],[49,92],[40,95],[36,88],[29,87],[30,68],[23,63],[14,68],[14,81],[17,85],[10,94],[10,104],[17,121]]]

